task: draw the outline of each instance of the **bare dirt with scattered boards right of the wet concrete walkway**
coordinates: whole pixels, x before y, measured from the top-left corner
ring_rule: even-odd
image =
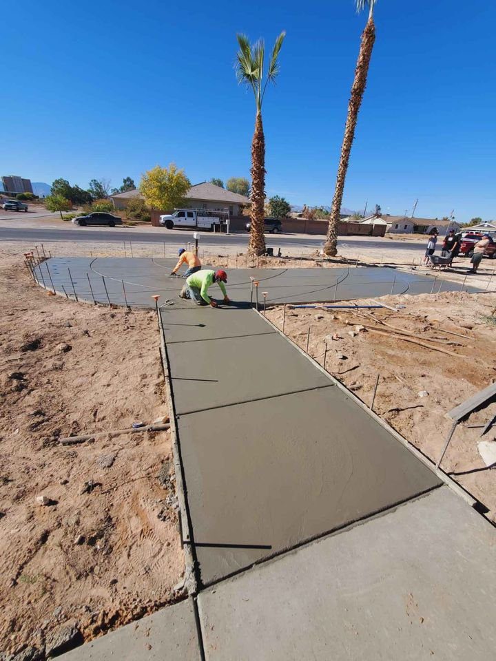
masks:
[[[375,412],[436,462],[451,428],[444,414],[496,381],[496,294],[386,296],[380,302],[404,308],[394,312],[287,306],[285,333],[306,350],[310,328],[309,354],[322,365],[327,344],[327,370],[368,406],[380,375]],[[283,316],[282,307],[267,311],[279,328]],[[453,355],[406,342],[394,328],[413,333],[403,337],[420,339]],[[468,424],[484,425],[494,415],[496,402],[461,423],[441,465],[487,507],[486,516],[492,521],[496,521],[496,470],[486,468],[477,443],[494,440],[496,426],[480,439],[482,430]]]

